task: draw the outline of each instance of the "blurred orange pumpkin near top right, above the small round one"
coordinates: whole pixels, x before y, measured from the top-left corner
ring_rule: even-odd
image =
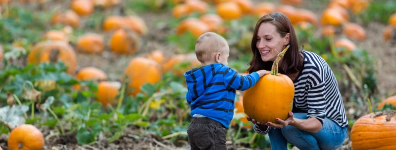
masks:
[[[346,20],[344,19],[343,15],[334,8],[327,8],[322,12],[322,16],[320,17],[322,25],[333,25],[333,26],[340,26]]]

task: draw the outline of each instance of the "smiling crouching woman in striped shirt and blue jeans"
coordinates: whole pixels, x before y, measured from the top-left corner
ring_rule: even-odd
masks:
[[[300,150],[336,150],[347,137],[348,121],[337,80],[330,67],[313,52],[299,51],[293,25],[280,12],[260,18],[251,42],[253,58],[248,73],[271,70],[276,56],[288,44],[279,73],[295,85],[293,111],[285,120],[259,122],[247,117],[259,134],[268,134],[272,150],[287,150],[287,143]]]

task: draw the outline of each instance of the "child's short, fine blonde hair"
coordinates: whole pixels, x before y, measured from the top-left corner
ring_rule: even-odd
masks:
[[[228,46],[228,42],[220,35],[213,32],[204,33],[198,38],[195,44],[197,59],[199,62],[205,62],[209,60],[214,53],[223,52],[222,49],[225,46]]]

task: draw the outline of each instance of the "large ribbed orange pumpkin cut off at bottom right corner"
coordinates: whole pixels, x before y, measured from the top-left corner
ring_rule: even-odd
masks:
[[[396,150],[396,111],[373,112],[357,119],[350,131],[353,150]]]

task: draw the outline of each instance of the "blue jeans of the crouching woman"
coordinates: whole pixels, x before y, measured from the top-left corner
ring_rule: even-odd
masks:
[[[294,113],[294,117],[306,119],[306,113]],[[347,138],[347,128],[342,128],[334,121],[325,118],[318,133],[306,132],[288,125],[282,129],[271,128],[268,136],[271,150],[287,150],[288,143],[300,150],[336,150]]]

